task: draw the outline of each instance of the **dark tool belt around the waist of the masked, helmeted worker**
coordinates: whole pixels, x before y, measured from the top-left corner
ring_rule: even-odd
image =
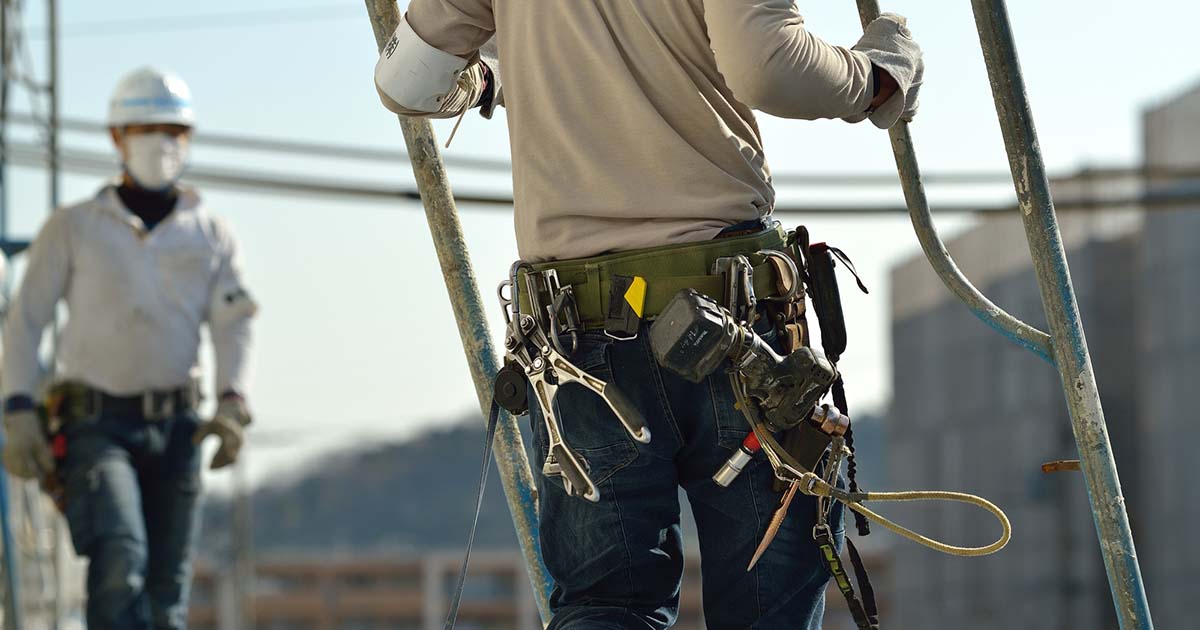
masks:
[[[102,414],[158,422],[196,409],[200,402],[200,391],[196,384],[191,384],[114,396],[84,383],[65,380],[52,385],[46,400],[48,415],[64,422],[95,419]]]

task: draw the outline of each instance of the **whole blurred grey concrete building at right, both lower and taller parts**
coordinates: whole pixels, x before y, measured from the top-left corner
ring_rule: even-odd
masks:
[[[1080,312],[1121,473],[1154,619],[1187,628],[1200,592],[1200,516],[1188,406],[1200,376],[1200,214],[1181,169],[1200,166],[1200,90],[1146,114],[1146,172],[1054,182]],[[1193,208],[1189,208],[1193,206]],[[989,216],[949,250],[986,295],[1045,329],[1015,214]],[[898,628],[1115,629],[1082,476],[1044,475],[1074,458],[1057,372],[990,331],[942,286],[925,259],[893,270],[895,487],[982,494],[1014,535],[980,559],[894,546]],[[1189,439],[1192,438],[1192,439]],[[955,544],[992,540],[995,526],[962,506],[894,514]]]

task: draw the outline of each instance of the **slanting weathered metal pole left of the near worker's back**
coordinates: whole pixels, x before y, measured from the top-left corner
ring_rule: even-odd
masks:
[[[400,24],[396,0],[366,0],[366,6],[376,44],[382,50]],[[416,186],[425,203],[425,216],[433,235],[442,276],[450,294],[458,335],[467,353],[467,364],[475,382],[475,394],[486,418],[491,408],[492,378],[496,376],[498,360],[487,329],[487,318],[484,316],[484,302],[479,295],[475,274],[470,266],[470,257],[467,253],[462,226],[458,223],[458,212],[450,192],[445,164],[442,162],[442,152],[427,120],[400,116],[400,125],[413,162]],[[542,620],[548,620],[551,581],[538,545],[538,500],[533,474],[529,470],[529,460],[526,457],[516,419],[506,413],[500,414],[494,451],[509,510],[512,512],[512,523],[516,526],[517,540],[538,600],[538,610]]]

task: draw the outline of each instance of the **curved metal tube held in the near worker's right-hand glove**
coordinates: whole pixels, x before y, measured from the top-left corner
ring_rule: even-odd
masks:
[[[877,0],[858,0],[858,16],[865,28],[880,16],[880,4]],[[908,216],[912,218],[913,230],[920,248],[925,252],[937,277],[942,278],[950,293],[956,295],[962,304],[971,310],[983,323],[988,324],[1001,335],[1008,337],[1018,346],[1040,356],[1043,360],[1054,364],[1054,352],[1050,348],[1050,335],[1021,322],[1003,308],[992,304],[959,269],[950,253],[946,250],[946,244],[937,234],[934,226],[934,217],[929,210],[929,198],[925,196],[925,185],[920,180],[920,167],[917,163],[917,154],[912,146],[912,134],[908,132],[908,124],[900,121],[888,130],[892,139],[892,152],[895,154],[896,169],[900,172],[900,185],[904,188],[904,198],[908,205]]]

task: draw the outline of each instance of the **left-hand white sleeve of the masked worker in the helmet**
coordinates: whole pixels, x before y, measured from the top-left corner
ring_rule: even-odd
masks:
[[[29,247],[25,276],[4,329],[4,397],[32,396],[42,378],[37,350],[42,332],[66,295],[71,276],[68,211],[56,210]]]

